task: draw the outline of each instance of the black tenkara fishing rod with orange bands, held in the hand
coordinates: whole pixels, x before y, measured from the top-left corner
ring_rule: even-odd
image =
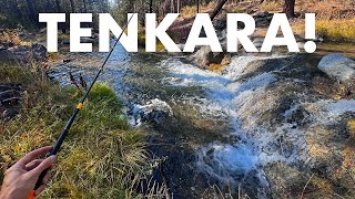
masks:
[[[100,74],[102,73],[103,71],[103,67],[104,65],[108,63],[113,50],[115,49],[116,44],[119,43],[121,36],[123,35],[124,33],[124,30],[128,28],[129,23],[131,22],[132,18],[133,18],[134,14],[131,15],[131,18],[129,19],[128,23],[125,24],[124,29],[122,30],[120,36],[116,39],[116,41],[114,42],[112,49],[110,50],[109,54],[106,55],[106,57],[104,59],[104,62],[102,63],[102,65],[99,67],[99,71],[95,75],[95,77],[93,78],[90,87],[87,90],[87,93],[84,94],[84,96],[81,98],[81,101],[79,102],[73,115],[70,117],[70,119],[68,121],[62,134],[60,135],[60,137],[58,138],[55,145],[53,146],[51,153],[49,154],[49,156],[53,156],[53,155],[57,155],[58,150],[60,149],[60,147],[62,146],[63,142],[64,142],[64,138],[68,134],[68,132],[70,130],[73,122],[75,121],[77,118],[77,115],[79,114],[79,112],[83,108],[83,104],[85,102],[85,100],[88,98],[89,94],[90,94],[90,91],[91,88],[93,87],[93,85],[95,84],[95,82],[98,81]],[[42,174],[39,176],[37,182],[36,182],[36,186],[34,186],[34,189],[31,191],[31,193],[29,195],[29,198],[28,199],[34,199],[36,197],[36,190],[42,185],[42,180],[44,178],[44,176],[47,175],[47,172],[49,171],[49,168],[43,170]]]

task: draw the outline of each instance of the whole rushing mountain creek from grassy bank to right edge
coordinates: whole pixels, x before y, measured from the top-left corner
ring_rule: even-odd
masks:
[[[354,59],[354,45],[344,46],[233,54],[215,73],[186,54],[118,45],[100,81],[116,91],[130,124],[149,132],[161,159],[153,177],[173,198],[355,196],[355,101],[317,69],[331,52]],[[105,55],[60,51],[67,61],[48,75],[63,86],[70,72],[90,83]]]

